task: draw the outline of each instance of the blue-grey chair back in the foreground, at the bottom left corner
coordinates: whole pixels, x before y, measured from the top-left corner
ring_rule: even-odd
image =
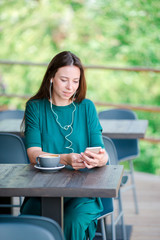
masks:
[[[0,215],[1,240],[64,240],[60,226],[40,216]]]

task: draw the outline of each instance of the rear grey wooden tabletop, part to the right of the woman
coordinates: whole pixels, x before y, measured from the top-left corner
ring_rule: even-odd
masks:
[[[144,138],[148,120],[108,120],[101,119],[102,134],[110,138]]]

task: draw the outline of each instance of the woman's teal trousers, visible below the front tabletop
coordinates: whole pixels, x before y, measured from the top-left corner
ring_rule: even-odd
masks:
[[[64,235],[66,240],[92,240],[97,217],[103,211],[100,198],[64,198]],[[40,198],[29,198],[21,214],[41,215]]]

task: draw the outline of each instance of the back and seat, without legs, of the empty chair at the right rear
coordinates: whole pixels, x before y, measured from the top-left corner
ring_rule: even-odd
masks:
[[[110,109],[99,112],[99,119],[137,119],[136,114],[128,109]],[[139,155],[137,139],[112,139],[118,155],[118,160],[134,159]]]

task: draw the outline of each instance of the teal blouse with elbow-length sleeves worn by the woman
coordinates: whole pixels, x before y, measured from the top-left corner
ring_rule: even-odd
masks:
[[[73,119],[73,132],[68,137],[72,142],[75,153],[84,152],[86,147],[101,146],[102,127],[99,123],[97,112],[92,101],[84,99],[81,103],[75,103],[76,111]],[[61,126],[70,125],[74,106],[52,105],[58,115]],[[50,102],[47,99],[31,100],[27,103],[25,112],[25,143],[26,148],[41,147],[49,153],[71,153],[66,147],[70,143],[65,136],[70,133],[58,125],[55,115],[51,111]]]

